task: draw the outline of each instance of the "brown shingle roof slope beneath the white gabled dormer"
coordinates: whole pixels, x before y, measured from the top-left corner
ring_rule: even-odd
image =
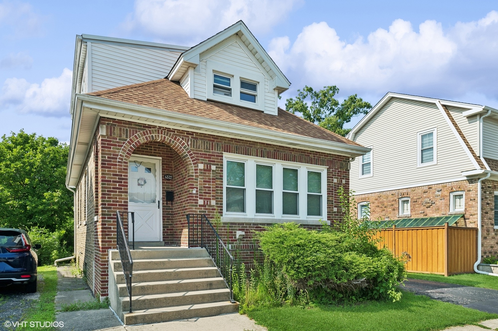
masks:
[[[189,98],[179,84],[168,79],[97,91],[89,93],[89,95],[155,109],[361,146],[280,108],[278,109],[278,116],[275,116],[259,110]]]

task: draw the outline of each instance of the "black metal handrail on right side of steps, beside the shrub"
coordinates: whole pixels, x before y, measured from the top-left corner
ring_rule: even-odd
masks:
[[[223,280],[230,288],[230,302],[235,303],[232,289],[234,257],[223,242],[215,227],[205,214],[188,214],[188,248],[202,247],[208,251]]]

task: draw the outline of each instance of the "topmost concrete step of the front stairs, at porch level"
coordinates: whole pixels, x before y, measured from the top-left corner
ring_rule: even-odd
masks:
[[[136,247],[135,247],[136,248]],[[155,247],[147,249],[131,250],[131,258],[136,260],[147,259],[172,259],[188,257],[208,257],[209,254],[204,248],[180,248],[180,247]],[[110,250],[111,260],[121,261],[120,253],[117,249]]]

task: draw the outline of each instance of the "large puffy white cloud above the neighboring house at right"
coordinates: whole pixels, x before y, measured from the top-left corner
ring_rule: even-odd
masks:
[[[364,95],[392,91],[467,102],[472,100],[461,97],[498,100],[497,11],[447,31],[427,20],[417,32],[410,22],[396,19],[388,30],[379,28],[352,43],[341,40],[327,23],[313,23],[293,43],[288,37],[274,38],[269,54],[295,88],[337,85]]]

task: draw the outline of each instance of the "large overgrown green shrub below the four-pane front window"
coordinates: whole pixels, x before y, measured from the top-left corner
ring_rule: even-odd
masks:
[[[249,276],[239,264],[234,294],[242,310],[282,303],[341,304],[361,300],[401,298],[397,286],[405,278],[402,258],[387,248],[378,249],[378,229],[362,225],[353,215],[352,195],[339,192],[345,213],[337,228],[326,223],[321,231],[296,223],[274,224],[256,233],[264,254]]]

